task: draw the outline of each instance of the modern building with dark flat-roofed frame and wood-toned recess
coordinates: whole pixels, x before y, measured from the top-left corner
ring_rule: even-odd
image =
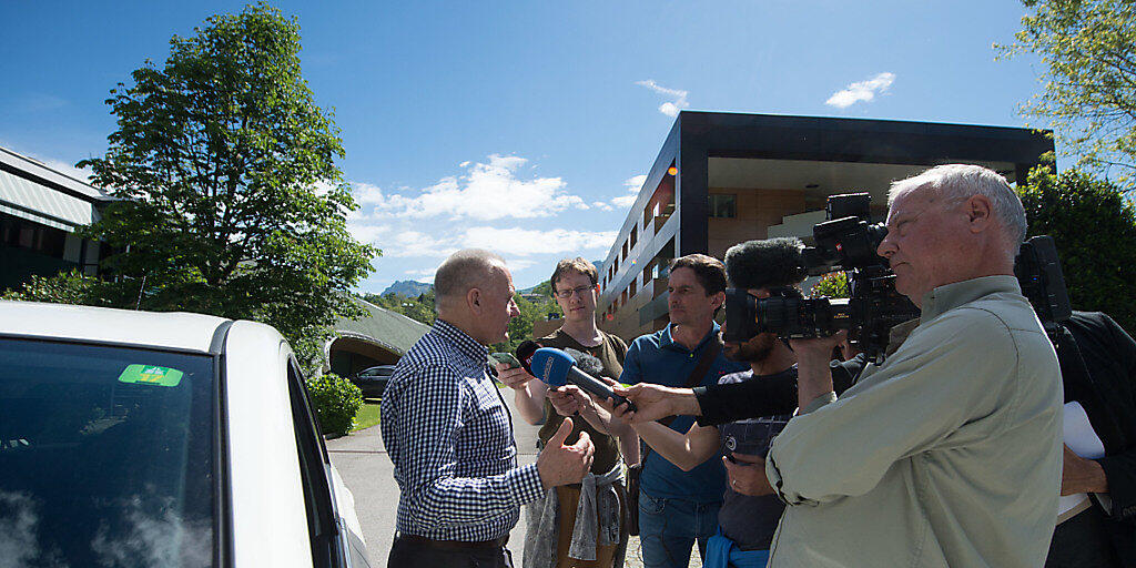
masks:
[[[811,240],[828,195],[887,189],[941,164],[977,164],[1024,184],[1045,133],[899,120],[682,111],[600,267],[604,331],[632,340],[665,327],[668,262],[770,236]]]

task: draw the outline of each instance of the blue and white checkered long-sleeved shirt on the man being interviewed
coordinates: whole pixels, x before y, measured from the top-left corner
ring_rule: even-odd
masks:
[[[488,351],[441,319],[399,361],[383,392],[382,433],[399,484],[398,531],[488,541],[544,491],[536,465],[517,467]]]

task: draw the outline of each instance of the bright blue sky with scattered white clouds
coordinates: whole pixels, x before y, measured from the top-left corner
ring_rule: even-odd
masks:
[[[1022,126],[1037,60],[995,61],[1025,9],[985,1],[277,2],[334,108],[383,249],[361,285],[500,251],[518,287],[603,258],[675,110]],[[106,151],[103,103],[174,34],[242,2],[0,1],[0,145],[66,168]]]

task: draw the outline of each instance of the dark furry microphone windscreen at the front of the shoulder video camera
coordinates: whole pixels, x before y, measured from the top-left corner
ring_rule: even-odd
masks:
[[[785,236],[735,244],[726,251],[726,277],[746,290],[795,286],[808,274],[803,248],[800,239]]]

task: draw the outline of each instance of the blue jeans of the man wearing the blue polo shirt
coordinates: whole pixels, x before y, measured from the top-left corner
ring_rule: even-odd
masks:
[[[638,508],[644,568],[686,568],[695,541],[705,558],[707,538],[718,532],[721,501],[658,499],[640,491]]]

